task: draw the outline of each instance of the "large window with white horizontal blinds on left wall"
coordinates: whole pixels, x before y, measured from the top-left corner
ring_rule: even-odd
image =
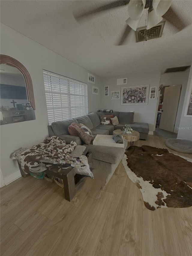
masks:
[[[88,113],[87,84],[43,71],[49,125]]]

